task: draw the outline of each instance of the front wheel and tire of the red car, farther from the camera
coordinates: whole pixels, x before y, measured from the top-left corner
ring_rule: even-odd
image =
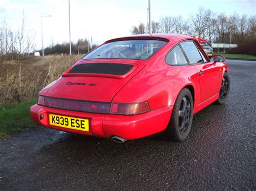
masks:
[[[221,82],[219,98],[215,103],[224,104],[227,101],[228,94],[230,94],[230,77],[225,72]]]

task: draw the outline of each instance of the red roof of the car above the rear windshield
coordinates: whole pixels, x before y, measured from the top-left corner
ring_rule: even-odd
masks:
[[[119,40],[127,40],[127,39],[142,39],[142,38],[152,38],[152,39],[166,39],[168,41],[180,41],[180,40],[186,40],[186,39],[193,39],[196,40],[194,37],[186,36],[183,34],[136,34],[136,35],[131,35],[127,37],[120,37],[120,38],[114,38],[111,40],[107,40],[105,43],[110,43],[111,41],[119,41]]]

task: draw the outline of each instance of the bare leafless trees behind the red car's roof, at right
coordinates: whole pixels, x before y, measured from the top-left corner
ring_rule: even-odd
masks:
[[[132,34],[149,33],[149,25],[140,23],[132,26]],[[183,16],[161,17],[152,21],[152,33],[175,33],[207,39],[209,43],[241,44],[248,39],[256,38],[256,15],[227,16],[217,15],[210,9],[199,8],[197,13],[190,14],[188,19]],[[230,39],[231,37],[231,39]]]

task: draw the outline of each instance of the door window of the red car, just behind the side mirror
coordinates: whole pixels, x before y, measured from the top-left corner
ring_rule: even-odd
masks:
[[[183,43],[180,43],[180,45],[183,48],[185,54],[187,55],[187,58],[190,61],[190,63],[204,62],[196,45],[194,45],[192,41],[185,41]]]

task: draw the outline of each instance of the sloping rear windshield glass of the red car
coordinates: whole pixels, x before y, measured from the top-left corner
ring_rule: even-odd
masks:
[[[104,44],[84,56],[85,59],[119,58],[149,59],[167,42],[163,40],[123,40]]]

